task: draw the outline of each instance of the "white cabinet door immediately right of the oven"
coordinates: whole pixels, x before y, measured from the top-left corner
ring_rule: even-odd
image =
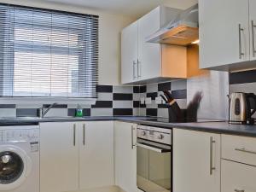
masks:
[[[173,191],[220,191],[220,136],[173,130]]]

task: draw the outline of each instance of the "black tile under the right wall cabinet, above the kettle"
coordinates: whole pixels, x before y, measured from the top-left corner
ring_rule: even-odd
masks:
[[[256,70],[230,73],[230,84],[247,84],[256,82]]]

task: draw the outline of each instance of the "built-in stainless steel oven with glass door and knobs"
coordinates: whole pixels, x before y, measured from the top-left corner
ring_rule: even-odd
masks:
[[[137,187],[172,191],[172,129],[137,126]]]

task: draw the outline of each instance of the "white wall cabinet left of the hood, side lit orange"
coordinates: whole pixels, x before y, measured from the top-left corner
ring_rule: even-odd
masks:
[[[121,41],[122,84],[184,79],[189,77],[190,66],[198,68],[195,57],[198,56],[198,49],[146,42],[148,36],[165,26],[179,12],[179,9],[160,6],[125,27]],[[195,60],[191,62],[187,55],[194,55]]]

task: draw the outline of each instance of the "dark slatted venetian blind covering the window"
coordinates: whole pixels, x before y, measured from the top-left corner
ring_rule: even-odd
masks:
[[[0,4],[0,96],[96,97],[98,16]]]

